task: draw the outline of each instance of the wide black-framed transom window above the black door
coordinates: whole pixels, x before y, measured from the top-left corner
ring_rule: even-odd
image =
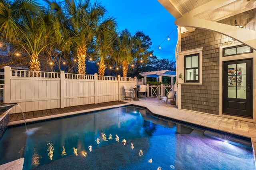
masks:
[[[239,54],[246,54],[246,53],[253,53],[253,49],[246,45],[238,45],[235,47],[223,48],[222,56],[226,57],[230,55],[239,55]]]

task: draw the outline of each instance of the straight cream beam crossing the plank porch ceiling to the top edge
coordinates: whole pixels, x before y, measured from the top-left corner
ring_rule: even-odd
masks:
[[[226,4],[230,4],[231,2],[234,2],[236,0],[212,0],[210,2],[207,2],[206,4],[203,4],[201,6],[198,6],[197,8],[190,10],[186,14],[183,14],[183,16],[189,16],[189,17],[196,17],[201,14],[204,14],[208,11],[215,10],[217,8],[220,8]],[[176,18],[178,19],[178,18]]]

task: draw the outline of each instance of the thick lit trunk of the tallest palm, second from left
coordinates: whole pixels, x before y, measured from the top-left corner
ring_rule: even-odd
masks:
[[[82,47],[78,47],[78,49],[77,49],[77,71],[78,71],[78,74],[86,74],[85,55],[86,55],[85,45],[82,45]]]

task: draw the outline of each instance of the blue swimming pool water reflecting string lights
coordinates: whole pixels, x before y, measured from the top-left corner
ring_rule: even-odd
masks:
[[[102,139],[102,133],[108,141]],[[88,146],[92,146],[91,152]],[[62,155],[63,147],[66,155]],[[205,130],[160,120],[138,107],[34,123],[27,132],[24,126],[8,128],[0,139],[0,164],[22,157],[24,170],[255,169],[250,142],[217,140]]]

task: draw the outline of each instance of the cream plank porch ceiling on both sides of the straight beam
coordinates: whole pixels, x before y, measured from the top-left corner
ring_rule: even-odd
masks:
[[[194,9],[197,14],[193,17],[216,22],[236,14],[251,10],[246,8],[247,0],[158,0],[174,18],[189,15]],[[211,2],[212,1],[212,2]],[[209,3],[211,2],[211,3]],[[198,8],[211,4],[211,8]],[[187,28],[190,31],[191,28]],[[186,31],[186,30],[185,30]]]

